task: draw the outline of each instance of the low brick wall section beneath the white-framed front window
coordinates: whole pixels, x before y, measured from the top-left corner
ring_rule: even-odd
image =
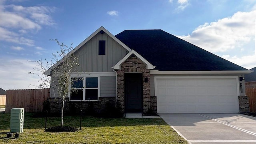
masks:
[[[50,112],[61,113],[61,100],[60,98],[50,98]],[[82,112],[84,113],[104,113],[107,106],[115,107],[115,97],[99,97],[98,101],[85,101],[82,102]],[[65,113],[80,113],[81,102],[69,101],[66,98],[64,102]]]

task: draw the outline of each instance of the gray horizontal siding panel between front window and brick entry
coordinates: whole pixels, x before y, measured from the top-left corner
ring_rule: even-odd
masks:
[[[116,96],[116,77],[101,76],[100,77],[100,97]]]

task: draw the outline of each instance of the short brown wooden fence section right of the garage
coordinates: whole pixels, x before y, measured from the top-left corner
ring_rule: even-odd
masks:
[[[256,88],[246,88],[245,92],[249,96],[250,112],[256,113]]]

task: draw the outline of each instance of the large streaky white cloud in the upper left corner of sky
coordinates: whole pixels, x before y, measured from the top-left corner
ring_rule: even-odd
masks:
[[[0,1],[0,40],[16,44],[34,46],[34,40],[26,38],[35,34],[43,25],[54,25],[50,14],[55,7],[4,5]],[[30,36],[32,37],[32,36]]]

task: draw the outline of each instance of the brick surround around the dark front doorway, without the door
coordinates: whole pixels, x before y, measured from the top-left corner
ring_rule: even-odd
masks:
[[[125,60],[120,65],[120,70],[116,70],[117,72],[117,102],[119,102],[120,106],[125,110],[125,98],[124,98],[124,73],[131,72],[141,72],[142,78],[148,78],[148,82],[142,80],[142,94],[143,94],[143,112],[147,112],[151,107],[151,98],[150,98],[150,70],[147,69],[147,65],[142,62],[135,55],[130,56],[127,60]]]

